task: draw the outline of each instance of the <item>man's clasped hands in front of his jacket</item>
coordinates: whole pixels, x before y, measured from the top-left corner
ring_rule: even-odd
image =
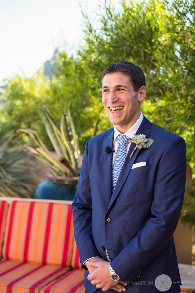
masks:
[[[94,261],[95,260],[95,261]],[[127,285],[124,281],[113,281],[110,276],[109,265],[110,263],[103,258],[93,258],[93,261],[87,260],[85,263],[89,270],[87,279],[91,281],[96,288],[101,288],[103,291],[113,289],[118,292],[126,291]]]

